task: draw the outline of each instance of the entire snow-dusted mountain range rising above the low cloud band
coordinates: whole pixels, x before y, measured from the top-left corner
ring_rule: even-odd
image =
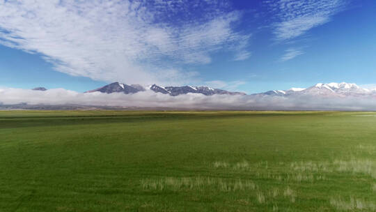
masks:
[[[43,87],[38,87],[33,90],[46,91]],[[139,84],[123,84],[120,82],[113,82],[98,89],[86,91],[85,93],[101,92],[101,93],[138,93],[141,91],[154,91],[155,93],[164,93],[170,96],[178,96],[187,93],[201,93],[205,96],[212,96],[214,94],[227,94],[227,95],[246,95],[243,92],[231,92],[222,89],[213,89],[210,86],[158,86],[152,84],[150,86],[141,86]],[[376,89],[363,89],[357,84],[352,83],[336,83],[331,82],[328,84],[318,83],[306,89],[292,88],[288,90],[272,90],[263,93],[253,93],[249,96],[367,96],[376,95]]]

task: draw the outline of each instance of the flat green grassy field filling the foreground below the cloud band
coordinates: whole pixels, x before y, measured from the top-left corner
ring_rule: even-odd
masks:
[[[375,211],[376,113],[0,112],[0,211]]]

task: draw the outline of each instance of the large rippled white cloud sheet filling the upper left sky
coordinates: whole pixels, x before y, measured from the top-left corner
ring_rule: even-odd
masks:
[[[246,52],[249,36],[233,29],[240,13],[228,8],[196,0],[2,1],[0,44],[42,54],[70,75],[148,84],[171,82],[174,70],[184,82],[195,75],[185,63]]]

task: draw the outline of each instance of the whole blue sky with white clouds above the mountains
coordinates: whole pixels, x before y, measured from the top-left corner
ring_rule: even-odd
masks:
[[[376,2],[1,1],[0,86],[376,84]]]

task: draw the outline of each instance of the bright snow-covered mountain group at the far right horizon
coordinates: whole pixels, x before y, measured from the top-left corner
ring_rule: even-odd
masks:
[[[376,93],[375,90],[363,89],[357,84],[352,83],[336,83],[328,84],[318,83],[306,89],[292,88],[286,91],[267,91],[264,93],[256,93],[255,95],[272,95],[272,96],[291,96],[291,95],[311,95],[311,96],[362,96]]]

